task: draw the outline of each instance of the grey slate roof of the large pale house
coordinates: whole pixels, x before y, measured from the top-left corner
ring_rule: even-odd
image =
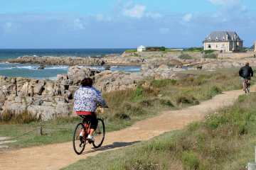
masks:
[[[226,40],[226,35],[228,35],[228,40]],[[236,35],[236,40],[235,40]],[[225,41],[242,41],[240,37],[238,36],[235,31],[213,31],[210,33],[210,35],[206,36],[206,40],[204,42],[208,42],[208,39],[210,37],[210,41],[216,41],[216,38],[218,37],[218,41],[223,41],[223,37],[225,38]]]

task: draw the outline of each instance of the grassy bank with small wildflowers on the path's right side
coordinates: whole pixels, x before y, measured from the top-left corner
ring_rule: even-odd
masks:
[[[97,154],[65,169],[245,169],[255,161],[255,100],[255,93],[243,94],[233,106],[210,112],[183,130]]]

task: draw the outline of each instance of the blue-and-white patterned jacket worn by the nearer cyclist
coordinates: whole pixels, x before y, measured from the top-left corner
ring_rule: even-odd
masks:
[[[106,107],[107,103],[94,87],[81,86],[74,94],[75,111],[95,112],[97,104]]]

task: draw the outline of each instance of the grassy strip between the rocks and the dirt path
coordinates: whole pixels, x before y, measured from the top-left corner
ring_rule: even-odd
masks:
[[[98,113],[98,117],[104,119],[107,132],[120,130],[161,111],[197,105],[222,91],[242,89],[237,72],[237,69],[187,71],[178,73],[179,80],[148,79],[137,82],[137,89],[102,94],[110,108]],[[14,120],[5,123],[1,120],[0,135],[16,137],[14,140],[18,142],[8,144],[14,148],[68,142],[72,140],[75,125],[81,120],[79,117],[58,118],[18,125]],[[43,135],[38,135],[40,126],[43,127]]]

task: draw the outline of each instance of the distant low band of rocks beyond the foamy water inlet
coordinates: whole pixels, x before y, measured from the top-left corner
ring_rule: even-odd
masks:
[[[2,60],[0,62],[19,63],[19,64],[44,64],[65,65],[65,66],[136,66],[141,67],[142,64],[151,64],[161,66],[162,64],[174,67],[180,65],[182,67],[197,67],[202,69],[214,68],[230,68],[241,67],[245,62],[250,62],[251,66],[256,66],[254,58],[245,59],[208,59],[195,57],[191,60],[182,60],[178,57],[134,57],[127,55],[100,55],[97,57],[69,57],[69,56],[23,56],[16,59]]]

